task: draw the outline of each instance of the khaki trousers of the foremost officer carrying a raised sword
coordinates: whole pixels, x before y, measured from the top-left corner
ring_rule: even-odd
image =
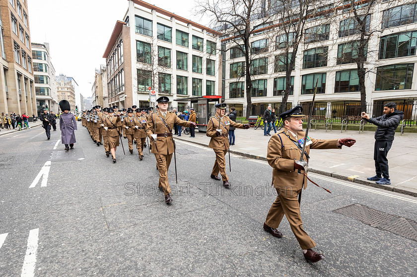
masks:
[[[303,229],[301,220],[300,205],[298,203],[298,194],[300,190],[280,190],[277,188],[278,196],[272,204],[266,219],[266,223],[271,228],[277,229],[281,223],[282,217],[286,216],[291,230],[295,238],[301,246],[306,250],[316,246],[316,243],[307,235]]]

